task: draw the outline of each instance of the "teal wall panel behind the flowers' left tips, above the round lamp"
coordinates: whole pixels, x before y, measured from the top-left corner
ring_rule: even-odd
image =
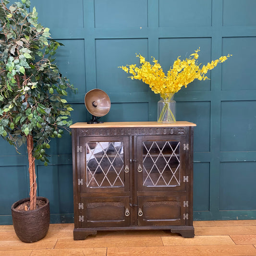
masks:
[[[147,92],[148,85],[127,78],[130,73],[119,66],[139,65],[136,53],[147,57],[147,38],[96,39],[97,88],[110,92]],[[120,99],[122,102],[122,98]]]

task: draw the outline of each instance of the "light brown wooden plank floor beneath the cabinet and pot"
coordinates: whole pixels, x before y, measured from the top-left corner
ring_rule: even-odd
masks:
[[[168,231],[98,232],[73,240],[73,224],[51,224],[33,244],[0,226],[0,256],[256,256],[256,220],[195,221],[195,237]]]

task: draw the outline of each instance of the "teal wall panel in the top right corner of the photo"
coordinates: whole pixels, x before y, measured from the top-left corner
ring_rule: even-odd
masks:
[[[223,26],[255,26],[255,0],[223,0]]]

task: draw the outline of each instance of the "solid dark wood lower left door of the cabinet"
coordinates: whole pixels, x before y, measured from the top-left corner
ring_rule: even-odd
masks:
[[[81,202],[79,221],[82,228],[130,225],[130,197],[84,197]]]

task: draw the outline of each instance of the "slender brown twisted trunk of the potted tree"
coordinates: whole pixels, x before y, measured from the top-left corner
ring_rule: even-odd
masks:
[[[30,210],[36,209],[37,202],[37,176],[35,168],[35,158],[33,157],[32,151],[34,148],[33,136],[27,135],[27,154],[28,154],[28,172],[29,172],[29,185],[30,185]]]

